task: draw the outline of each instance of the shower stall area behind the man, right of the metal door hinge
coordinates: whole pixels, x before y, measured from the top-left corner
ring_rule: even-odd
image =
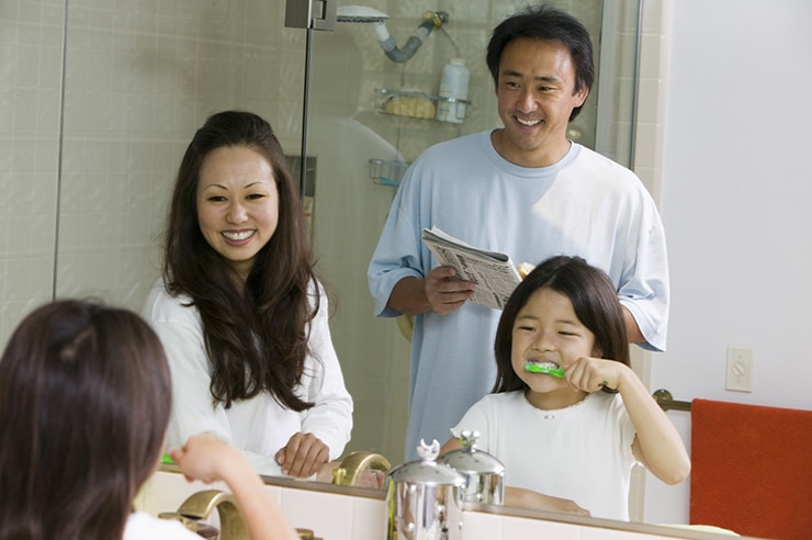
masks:
[[[348,451],[392,462],[403,459],[409,327],[373,316],[366,266],[408,164],[435,143],[501,125],[485,46],[490,30],[526,4],[435,1],[315,1],[308,9],[289,0],[285,16],[307,38],[300,155],[308,159],[297,164],[317,268],[331,293],[332,339],[356,402]],[[639,2],[553,3],[587,26],[599,64],[569,137],[630,165]],[[436,120],[440,72],[452,57],[471,70],[459,124]]]

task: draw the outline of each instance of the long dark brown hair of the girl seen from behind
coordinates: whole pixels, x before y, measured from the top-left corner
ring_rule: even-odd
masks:
[[[138,315],[81,301],[30,314],[0,360],[0,538],[122,538],[170,407]]]

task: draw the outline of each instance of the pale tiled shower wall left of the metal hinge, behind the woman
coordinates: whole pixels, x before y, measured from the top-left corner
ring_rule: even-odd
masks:
[[[54,289],[140,308],[206,115],[251,109],[297,147],[304,35],[282,20],[279,1],[0,3],[0,342]]]

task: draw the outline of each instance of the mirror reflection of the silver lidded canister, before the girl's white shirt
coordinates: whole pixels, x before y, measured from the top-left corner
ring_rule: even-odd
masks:
[[[440,455],[438,463],[446,463],[465,477],[461,487],[465,503],[500,505],[505,502],[505,465],[487,452],[476,449],[480,434],[471,430],[453,434],[462,448]]]

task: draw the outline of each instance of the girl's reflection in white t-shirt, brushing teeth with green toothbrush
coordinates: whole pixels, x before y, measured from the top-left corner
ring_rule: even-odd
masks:
[[[494,350],[494,393],[454,432],[480,432],[505,464],[507,505],[628,520],[635,462],[668,484],[688,475],[679,434],[630,368],[617,292],[584,259],[553,257],[525,278]]]

